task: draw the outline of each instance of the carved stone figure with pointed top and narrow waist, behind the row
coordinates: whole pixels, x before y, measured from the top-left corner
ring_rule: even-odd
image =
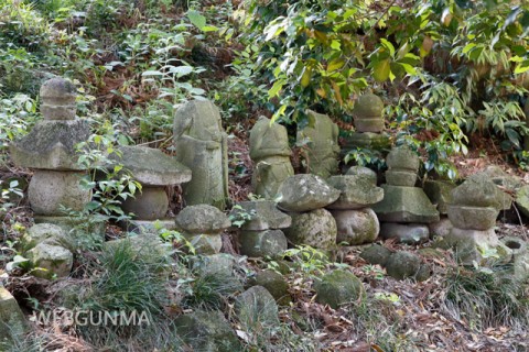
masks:
[[[291,154],[287,129],[260,117],[250,131],[250,157],[255,165],[251,185],[256,195],[276,198],[283,182],[294,175]]]

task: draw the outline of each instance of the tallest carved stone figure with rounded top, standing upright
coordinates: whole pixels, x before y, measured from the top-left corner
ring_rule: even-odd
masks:
[[[176,111],[173,132],[176,158],[192,170],[193,178],[182,186],[186,205],[224,209],[228,198],[228,154],[218,108],[207,100],[186,102]]]

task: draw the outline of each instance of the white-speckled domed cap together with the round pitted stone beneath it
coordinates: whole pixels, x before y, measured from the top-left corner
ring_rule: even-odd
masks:
[[[320,176],[299,174],[287,178],[279,189],[278,207],[292,218],[284,229],[290,243],[307,244],[324,251],[336,245],[336,221],[324,209],[339,198],[341,191]]]

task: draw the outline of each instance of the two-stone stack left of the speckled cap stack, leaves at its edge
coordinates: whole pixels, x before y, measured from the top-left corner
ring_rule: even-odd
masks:
[[[281,229],[292,224],[292,218],[277,208],[271,200],[242,201],[231,210],[231,219],[250,216],[239,234],[240,253],[250,257],[277,258],[288,248]]]

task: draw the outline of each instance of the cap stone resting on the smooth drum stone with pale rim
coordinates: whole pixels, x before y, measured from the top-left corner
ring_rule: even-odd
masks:
[[[384,190],[365,176],[331,176],[327,184],[341,191],[339,198],[328,209],[361,209],[384,198]]]

